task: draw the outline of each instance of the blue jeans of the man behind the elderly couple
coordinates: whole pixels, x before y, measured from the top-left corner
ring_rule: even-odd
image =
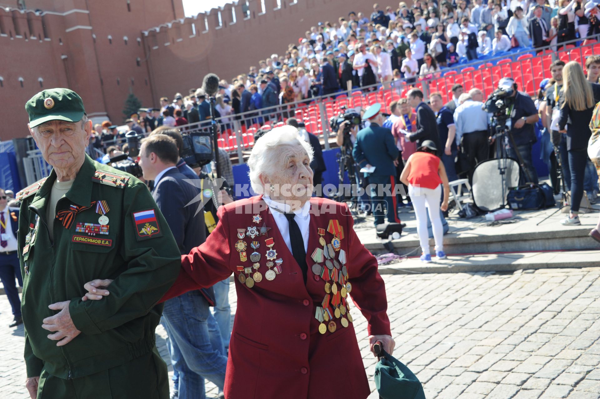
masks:
[[[205,380],[223,389],[227,356],[217,320],[198,290],[164,302],[163,326],[169,334],[169,353],[177,371],[181,399],[204,399]]]

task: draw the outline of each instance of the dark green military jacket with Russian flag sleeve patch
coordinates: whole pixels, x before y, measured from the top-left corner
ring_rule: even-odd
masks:
[[[70,379],[154,349],[162,313],[157,302],[177,278],[181,257],[146,185],[87,155],[73,187],[56,204],[50,242],[46,204],[55,180],[52,171],[17,194],[25,362],[28,377],[45,367]],[[83,284],[95,278],[115,280],[110,295],[83,302]],[[42,320],[58,313],[48,305],[68,300],[81,334],[58,347]]]

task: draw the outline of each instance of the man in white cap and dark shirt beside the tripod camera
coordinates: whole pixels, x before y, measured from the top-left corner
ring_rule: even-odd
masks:
[[[512,104],[507,115],[510,115],[511,118],[509,134],[512,135],[512,140],[508,140],[506,151],[508,156],[518,160],[524,169],[521,170],[519,185],[526,183],[538,184],[538,173],[533,167],[531,155],[531,148],[537,140],[533,125],[539,121],[538,110],[529,95],[517,91],[517,83],[512,78],[503,77],[500,79],[498,89],[507,94],[510,93],[508,98],[511,98],[509,101]],[[494,137],[490,137],[490,140],[493,142]]]

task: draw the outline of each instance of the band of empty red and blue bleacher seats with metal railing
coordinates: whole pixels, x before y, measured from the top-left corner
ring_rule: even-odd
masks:
[[[395,82],[391,88],[383,88],[378,83],[355,88],[350,93],[338,92],[217,118],[217,123],[221,126],[218,146],[227,152],[236,153],[238,161],[243,162],[244,152],[248,155],[248,151],[254,144],[254,134],[260,127],[264,125],[276,127],[283,125],[287,118],[295,117],[305,123],[307,131],[319,137],[325,149],[329,149],[329,139],[336,134],[331,131],[329,120],[341,112],[342,106],[364,108],[373,103],[380,103],[383,112],[389,113],[389,104],[405,97],[406,92],[413,87],[421,89],[426,97],[431,92],[439,92],[446,102],[452,98],[451,88],[455,83],[463,85],[466,91],[472,88],[481,89],[484,97],[487,97],[494,91],[502,77],[509,76],[515,80],[520,91],[535,95],[539,83],[546,77],[550,77],[550,64],[555,59],[562,59],[565,62],[578,61],[583,65],[587,56],[600,54],[600,43],[593,38],[586,38],[584,46],[576,46],[575,43],[579,41],[581,40],[554,46],[558,47],[557,51],[554,51],[551,46],[535,50],[529,48],[445,68],[440,73],[434,74],[433,78],[419,79],[414,85],[407,85],[406,81],[401,80],[399,83]],[[209,127],[210,122],[203,121],[180,128],[182,133],[186,133],[208,130]]]

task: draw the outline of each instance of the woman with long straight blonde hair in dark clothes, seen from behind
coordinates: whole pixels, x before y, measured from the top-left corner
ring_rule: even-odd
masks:
[[[600,101],[600,85],[590,83],[578,62],[563,68],[564,101],[560,109],[559,131],[566,133],[566,148],[571,169],[571,212],[560,221],[564,226],[580,225],[578,213],[583,197],[583,181],[587,163],[587,145],[592,136],[590,120]],[[566,130],[565,130],[566,127]]]

